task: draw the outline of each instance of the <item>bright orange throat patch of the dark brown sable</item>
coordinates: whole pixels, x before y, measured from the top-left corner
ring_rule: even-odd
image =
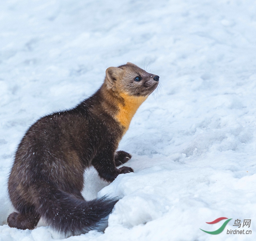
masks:
[[[139,106],[147,99],[148,96],[131,96],[126,93],[120,94],[125,101],[125,105],[118,103],[118,113],[115,115],[115,119],[125,127],[125,132],[128,130],[131,119],[138,110]]]

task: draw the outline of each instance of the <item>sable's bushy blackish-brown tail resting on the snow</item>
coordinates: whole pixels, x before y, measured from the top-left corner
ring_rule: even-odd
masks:
[[[48,225],[66,235],[79,235],[97,229],[118,201],[105,196],[85,201],[59,190],[47,199],[40,205],[40,215]]]

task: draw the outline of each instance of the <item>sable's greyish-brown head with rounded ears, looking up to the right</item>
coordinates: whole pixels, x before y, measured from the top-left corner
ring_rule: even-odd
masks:
[[[107,68],[105,81],[107,87],[116,93],[146,97],[157,88],[159,76],[127,62],[126,65]]]

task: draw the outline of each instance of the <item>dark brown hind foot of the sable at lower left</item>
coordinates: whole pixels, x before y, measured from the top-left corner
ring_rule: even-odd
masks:
[[[7,218],[7,223],[11,228],[34,229],[39,219],[40,215],[34,211],[27,213],[13,212]]]

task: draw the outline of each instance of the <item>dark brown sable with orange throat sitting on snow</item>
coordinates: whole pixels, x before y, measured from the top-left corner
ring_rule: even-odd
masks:
[[[66,235],[97,229],[116,199],[86,201],[81,195],[84,170],[113,181],[130,167],[117,168],[131,155],[116,151],[133,115],[158,85],[159,76],[127,63],[106,70],[100,89],[73,109],[37,120],[26,132],[8,180],[17,212],[10,227],[33,229],[40,217]]]

